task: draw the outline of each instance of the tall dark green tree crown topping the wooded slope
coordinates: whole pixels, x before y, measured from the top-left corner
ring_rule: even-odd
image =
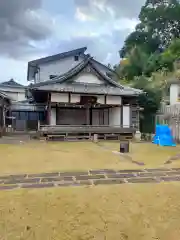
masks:
[[[146,0],[139,14],[140,23],[125,40],[120,50],[124,58],[136,46],[152,54],[163,51],[180,37],[179,0]]]

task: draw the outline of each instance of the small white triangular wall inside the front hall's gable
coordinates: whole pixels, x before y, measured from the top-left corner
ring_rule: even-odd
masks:
[[[75,82],[78,83],[95,83],[102,84],[103,82],[98,79],[98,77],[92,73],[81,73],[75,79]]]

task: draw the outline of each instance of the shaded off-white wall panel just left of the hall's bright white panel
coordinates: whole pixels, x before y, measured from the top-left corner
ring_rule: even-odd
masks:
[[[109,125],[120,126],[121,125],[121,107],[111,108],[109,111]]]

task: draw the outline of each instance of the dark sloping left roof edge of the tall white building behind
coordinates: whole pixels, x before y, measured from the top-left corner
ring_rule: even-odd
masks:
[[[47,63],[50,61],[56,61],[56,60],[60,60],[66,57],[70,57],[70,56],[76,56],[78,54],[83,54],[85,51],[87,50],[87,47],[82,47],[82,48],[77,48],[68,52],[63,52],[63,53],[59,53],[59,54],[55,54],[52,56],[48,56],[48,57],[44,57],[44,58],[39,58],[33,61],[30,61],[28,64],[35,66],[38,64],[42,64],[42,63]]]

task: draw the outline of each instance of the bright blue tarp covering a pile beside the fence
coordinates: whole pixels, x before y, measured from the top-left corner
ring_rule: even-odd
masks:
[[[156,125],[156,135],[152,143],[160,146],[176,146],[168,125]]]

